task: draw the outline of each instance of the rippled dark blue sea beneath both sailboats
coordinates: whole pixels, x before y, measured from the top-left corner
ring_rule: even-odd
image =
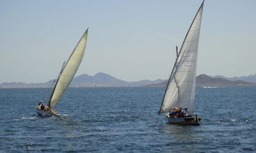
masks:
[[[256,152],[256,86],[196,88],[200,126],[158,115],[165,88],[69,88],[41,117],[48,89],[0,89],[0,152]]]

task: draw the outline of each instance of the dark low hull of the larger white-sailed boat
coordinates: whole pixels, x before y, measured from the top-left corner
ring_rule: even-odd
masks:
[[[179,124],[179,125],[200,125],[201,118],[198,118],[197,115],[190,115],[182,118],[174,118],[166,114],[168,123],[170,124]]]

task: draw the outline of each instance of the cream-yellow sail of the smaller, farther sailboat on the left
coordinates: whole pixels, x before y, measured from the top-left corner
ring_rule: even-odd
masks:
[[[81,60],[83,59],[84,50],[86,49],[87,34],[88,29],[86,32],[84,32],[79,43],[77,43],[76,48],[74,48],[72,54],[70,55],[69,60],[67,60],[65,67],[63,67],[54,91],[52,92],[52,96],[48,101],[47,105],[49,107],[53,107],[56,103],[58,103],[59,99],[61,99],[63,93],[65,93],[70,82],[72,81],[74,74],[76,74]]]

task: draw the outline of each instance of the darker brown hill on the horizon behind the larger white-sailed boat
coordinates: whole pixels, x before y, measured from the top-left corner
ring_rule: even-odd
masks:
[[[168,81],[162,83],[151,84],[147,86],[166,86]],[[197,86],[227,86],[227,85],[256,85],[256,83],[246,82],[246,81],[229,81],[224,78],[210,77],[205,74],[198,75],[195,80],[195,85]]]

